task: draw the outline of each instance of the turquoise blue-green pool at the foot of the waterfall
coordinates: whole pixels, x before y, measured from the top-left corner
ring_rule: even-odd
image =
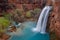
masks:
[[[36,22],[25,22],[22,35],[13,35],[10,40],[49,40],[49,34],[40,34],[33,32],[32,28],[36,27]]]

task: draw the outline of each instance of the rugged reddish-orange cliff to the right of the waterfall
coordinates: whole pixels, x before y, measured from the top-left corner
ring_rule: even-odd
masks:
[[[53,10],[49,17],[50,32],[55,32],[58,40],[60,40],[60,0],[49,0],[47,5],[52,5]]]

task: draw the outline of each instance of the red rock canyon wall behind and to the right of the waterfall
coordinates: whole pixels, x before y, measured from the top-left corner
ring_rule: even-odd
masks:
[[[57,38],[60,38],[60,0],[8,0],[9,5],[16,5],[18,9],[25,7],[28,10],[36,7],[43,8],[45,2],[46,5],[53,6],[48,20],[49,30],[55,32]]]

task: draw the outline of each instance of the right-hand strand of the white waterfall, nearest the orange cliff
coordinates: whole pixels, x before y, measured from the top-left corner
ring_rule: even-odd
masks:
[[[43,19],[43,23],[42,23],[42,28],[41,28],[41,32],[40,33],[46,33],[46,26],[47,26],[47,20],[48,20],[48,16],[49,16],[49,11],[52,9],[51,6],[46,6],[46,10],[45,10],[45,14],[44,14],[44,19]]]

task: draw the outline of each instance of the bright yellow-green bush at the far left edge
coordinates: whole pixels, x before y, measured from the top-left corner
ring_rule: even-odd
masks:
[[[10,22],[4,17],[0,17],[0,32],[4,32],[5,29],[9,26]]]

